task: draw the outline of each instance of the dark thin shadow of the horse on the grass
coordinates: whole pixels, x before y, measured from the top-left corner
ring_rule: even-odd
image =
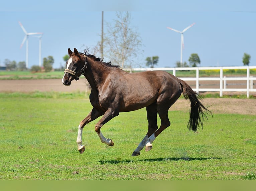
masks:
[[[167,158],[152,158],[152,159],[141,159],[141,160],[100,160],[101,164],[118,164],[118,163],[131,163],[134,161],[143,161],[143,162],[162,162],[162,161],[178,161],[178,160],[185,160],[185,161],[192,161],[192,160],[210,160],[210,159],[222,159],[218,157],[167,157]]]

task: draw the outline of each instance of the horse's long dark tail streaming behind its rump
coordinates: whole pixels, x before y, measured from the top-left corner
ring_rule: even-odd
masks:
[[[212,112],[207,109],[208,107],[205,107],[201,103],[201,95],[193,91],[192,88],[183,80],[178,79],[178,81],[182,87],[182,92],[185,99],[188,98],[190,100],[190,116],[187,123],[187,128],[196,132],[198,127],[201,126],[203,128],[204,120],[208,120],[207,114],[211,113],[212,115]]]

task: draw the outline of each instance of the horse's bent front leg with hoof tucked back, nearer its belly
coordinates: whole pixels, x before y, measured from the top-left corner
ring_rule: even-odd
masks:
[[[101,142],[105,143],[109,146],[114,146],[114,142],[111,139],[107,139],[103,136],[101,132],[101,127],[107,123],[110,119],[119,115],[118,109],[108,108],[108,110],[104,113],[103,117],[99,120],[99,122],[95,125],[95,131],[99,135]]]

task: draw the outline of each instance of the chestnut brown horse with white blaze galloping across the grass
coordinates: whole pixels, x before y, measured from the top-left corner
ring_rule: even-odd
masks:
[[[93,106],[91,112],[80,122],[78,126],[77,145],[82,154],[85,146],[82,144],[83,128],[89,122],[102,116],[96,123],[95,131],[102,143],[114,146],[114,142],[105,138],[101,127],[119,115],[120,112],[129,112],[146,107],[148,131],[132,156],[140,155],[152,149],[155,138],[168,126],[168,110],[171,105],[183,93],[185,99],[190,100],[190,115],[187,124],[189,130],[197,131],[203,128],[203,122],[208,119],[208,107],[202,104],[202,97],[183,80],[176,78],[165,71],[145,71],[128,73],[112,65],[111,62],[103,62],[102,58],[90,55],[88,50],[84,53],[74,52],[68,49],[70,58],[62,78],[62,84],[70,86],[73,80],[79,80],[84,75],[91,86],[90,102]],[[201,101],[200,101],[201,100]],[[157,126],[157,114],[161,124]]]

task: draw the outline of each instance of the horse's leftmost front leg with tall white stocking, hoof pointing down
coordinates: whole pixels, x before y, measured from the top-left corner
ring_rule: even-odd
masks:
[[[78,150],[82,154],[85,151],[85,146],[82,144],[82,133],[83,128],[86,124],[93,121],[94,119],[97,119],[99,116],[103,115],[104,112],[98,111],[95,108],[92,109],[92,111],[82,120],[78,126],[78,135],[77,135],[77,145]]]

